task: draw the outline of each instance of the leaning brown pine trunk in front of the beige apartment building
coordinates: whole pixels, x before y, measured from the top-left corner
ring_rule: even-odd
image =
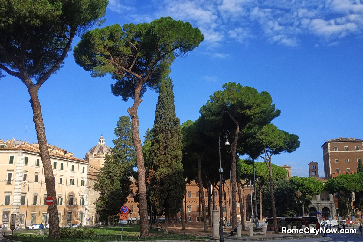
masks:
[[[28,88],[28,92],[30,94],[29,102],[33,110],[33,122],[35,124],[35,130],[37,131],[39,155],[43,165],[47,196],[53,197],[54,201],[57,201],[56,185],[54,184],[53,168],[52,163],[50,162],[48,142],[45,136],[45,127],[42,117],[42,111],[38,99],[38,89],[36,87]],[[48,218],[49,238],[58,239],[60,234],[57,202],[53,202],[53,204],[49,206]]]

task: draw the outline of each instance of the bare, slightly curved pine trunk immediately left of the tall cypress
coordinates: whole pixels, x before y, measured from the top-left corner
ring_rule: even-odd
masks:
[[[144,156],[142,153],[142,144],[139,135],[139,117],[137,116],[137,110],[139,104],[142,102],[140,99],[140,90],[142,85],[138,85],[135,88],[134,104],[131,108],[127,108],[132,123],[132,140],[134,141],[136,164],[138,168],[138,192],[139,192],[139,216],[140,216],[140,238],[148,238],[148,216],[147,216],[147,200],[146,200],[146,184],[145,184],[145,165]]]

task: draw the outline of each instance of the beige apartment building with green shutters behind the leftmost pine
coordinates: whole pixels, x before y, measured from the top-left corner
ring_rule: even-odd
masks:
[[[86,221],[88,210],[87,171],[89,163],[73,157],[57,146],[48,145],[56,184],[60,226]],[[38,144],[21,140],[0,139],[0,222],[9,227],[10,214],[16,214],[21,228],[32,223],[45,223],[47,196]],[[85,196],[86,195],[86,196]]]

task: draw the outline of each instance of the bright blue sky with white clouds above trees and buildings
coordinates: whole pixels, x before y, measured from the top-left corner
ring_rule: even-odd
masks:
[[[307,176],[314,160],[323,176],[321,145],[327,139],[363,139],[362,0],[110,0],[104,25],[162,16],[189,21],[205,36],[172,66],[181,122],[197,119],[209,95],[233,81],[268,91],[281,110],[273,123],[300,137],[297,151],[273,157],[275,164],[290,165],[292,175]],[[69,53],[39,91],[48,142],[79,158],[101,133],[112,146],[118,117],[127,115],[132,101],[113,96],[111,83],[110,76],[91,78]],[[2,78],[0,97],[0,138],[24,140],[28,123],[26,139],[37,142],[24,84]],[[153,125],[156,99],[148,90],[140,104],[141,138]]]

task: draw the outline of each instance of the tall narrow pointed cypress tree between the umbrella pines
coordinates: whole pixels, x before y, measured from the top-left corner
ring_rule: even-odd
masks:
[[[149,156],[149,180],[153,187],[150,201],[158,213],[165,212],[165,234],[168,233],[168,221],[181,208],[186,192],[181,138],[180,120],[175,114],[173,82],[167,78],[159,89]]]

